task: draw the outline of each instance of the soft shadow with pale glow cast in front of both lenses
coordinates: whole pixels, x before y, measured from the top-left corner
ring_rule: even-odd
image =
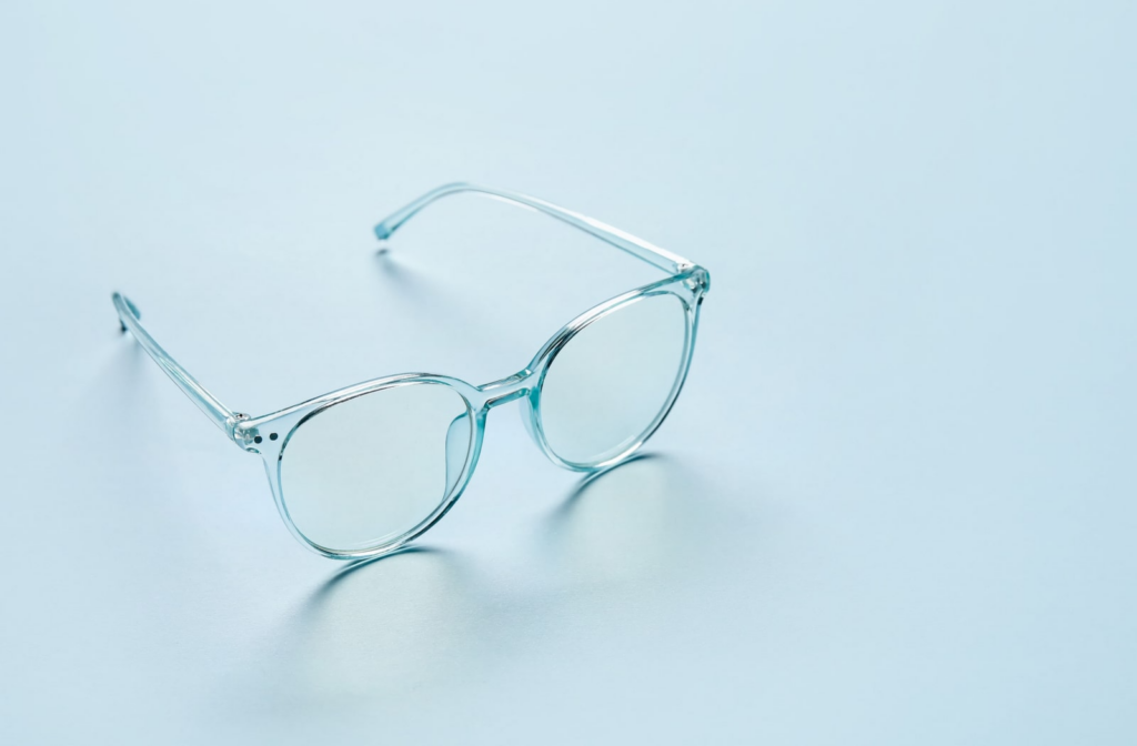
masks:
[[[691,562],[677,547],[705,536],[692,516],[697,486],[655,454],[582,479],[543,520],[537,549],[506,556],[526,567],[524,578],[501,581],[428,546],[343,567],[274,636],[263,704],[334,711],[409,687],[478,681],[536,654],[597,600],[606,610],[639,604],[642,592],[682,582],[680,567]]]

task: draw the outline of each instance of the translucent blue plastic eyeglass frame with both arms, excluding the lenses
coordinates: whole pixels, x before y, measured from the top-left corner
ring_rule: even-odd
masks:
[[[565,324],[556,334],[538,350],[537,355],[521,371],[504,379],[473,386],[460,379],[432,373],[401,373],[388,375],[371,381],[364,381],[355,386],[349,386],[323,396],[308,399],[307,401],[285,407],[272,414],[250,416],[230,409],[213,396],[197,379],[182,367],[166,350],[155,341],[153,337],[142,326],[141,314],[138,308],[125,296],[114,293],[113,300],[118,312],[118,318],[123,332],[131,332],[142,348],[155,359],[163,371],[182,389],[207,417],[219,428],[230,440],[235,442],[242,450],[259,454],[265,464],[265,472],[268,475],[268,483],[272,488],[276,508],[280,512],[284,524],[292,536],[302,545],[333,560],[359,560],[376,557],[392,553],[408,541],[417,538],[434,525],[446,513],[454,507],[458,498],[468,484],[474,469],[478,465],[478,457],[481,453],[482,440],[485,432],[485,420],[490,409],[509,401],[520,401],[522,417],[533,441],[545,453],[553,463],[565,469],[580,472],[597,472],[608,469],[625,461],[634,454],[659,428],[672,406],[679,397],[687,380],[690,368],[691,357],[695,353],[695,339],[698,331],[699,308],[703,299],[711,288],[711,275],[702,266],[689,262],[680,256],[666,251],[644,239],[637,238],[612,227],[579,213],[557,207],[532,197],[508,192],[485,186],[478,186],[467,183],[454,183],[439,186],[430,191],[402,209],[396,212],[382,223],[375,226],[375,235],[380,240],[389,239],[404,223],[414,217],[420,210],[431,202],[460,192],[474,192],[490,196],[506,202],[529,207],[550,217],[557,218],[573,227],[590,233],[595,238],[605,241],[632,256],[647,262],[648,264],[666,273],[666,277],[649,284],[629,290],[609,300],[606,300],[584,313],[580,314]],[[561,458],[546,440],[541,425],[541,388],[549,365],[554,362],[557,353],[565,347],[576,334],[600,318],[619,312],[621,308],[641,301],[646,298],[658,295],[671,295],[682,304],[687,330],[683,343],[682,360],[679,374],[667,396],[666,401],[659,413],[650,422],[642,434],[630,442],[621,453],[607,457],[597,463],[576,463]],[[470,439],[465,463],[462,465],[455,479],[448,479],[447,491],[439,506],[423,521],[402,534],[388,539],[383,544],[367,547],[366,549],[339,550],[321,546],[309,540],[293,523],[289,515],[288,505],[284,499],[284,490],[281,484],[281,466],[284,453],[288,448],[289,439],[297,432],[298,428],[309,417],[356,397],[360,397],[387,388],[406,384],[433,384],[445,386],[457,392],[466,405],[466,415],[473,423],[473,432]]]

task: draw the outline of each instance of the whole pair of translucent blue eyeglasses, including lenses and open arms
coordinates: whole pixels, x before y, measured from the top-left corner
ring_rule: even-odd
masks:
[[[478,465],[490,409],[518,401],[537,446],[581,472],[613,466],[659,428],[687,379],[707,271],[591,217],[513,192],[447,184],[375,226],[385,240],[431,202],[459,192],[536,209],[648,264],[667,277],[568,322],[523,370],[472,386],[404,373],[252,417],[217,400],[143,329],[119,293],[115,308],[163,371],[238,446],[259,454],[292,534],[334,560],[398,549],[437,523]]]

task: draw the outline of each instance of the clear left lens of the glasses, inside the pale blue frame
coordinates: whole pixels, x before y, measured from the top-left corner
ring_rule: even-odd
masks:
[[[321,409],[281,461],[284,507],[325,549],[393,541],[429,519],[458,483],[473,441],[466,400],[437,383],[404,383]]]

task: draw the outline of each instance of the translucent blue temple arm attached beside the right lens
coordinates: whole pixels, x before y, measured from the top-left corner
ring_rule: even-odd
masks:
[[[612,227],[606,223],[581,215],[580,213],[573,213],[572,210],[566,210],[565,208],[557,207],[550,202],[534,199],[532,197],[525,197],[524,194],[518,194],[516,192],[507,192],[499,189],[489,189],[487,186],[476,186],[474,184],[465,183],[445,184],[433,191],[426,192],[376,225],[375,235],[377,235],[381,241],[390,238],[392,233],[399,230],[399,226],[414,217],[418,210],[437,199],[441,199],[442,197],[448,197],[450,194],[457,194],[458,192],[478,192],[481,194],[489,194],[490,197],[496,197],[507,202],[522,205],[524,207],[536,209],[539,213],[545,213],[546,215],[555,217],[563,223],[567,223],[575,229],[580,229],[586,233],[591,233],[601,241],[611,243],[617,249],[623,249],[628,254],[631,254],[632,256],[638,257],[671,274],[679,274],[680,272],[694,266],[692,262],[689,262],[681,256],[672,254],[666,249],[661,249],[654,243],[649,243],[641,238],[637,238],[631,233],[625,233],[620,229]]]

